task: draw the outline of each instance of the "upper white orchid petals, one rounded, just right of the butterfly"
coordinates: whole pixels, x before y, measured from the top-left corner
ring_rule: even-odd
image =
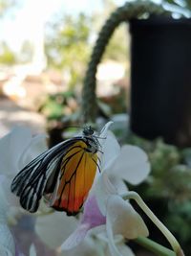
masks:
[[[112,133],[108,134],[103,151],[105,164],[96,183],[95,193],[100,211],[105,215],[107,198],[111,194],[126,193],[127,186],[124,181],[138,185],[149,175],[151,168],[144,151],[131,145],[120,148]]]

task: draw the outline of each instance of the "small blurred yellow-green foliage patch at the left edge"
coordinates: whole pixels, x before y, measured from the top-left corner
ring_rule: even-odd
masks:
[[[6,42],[0,43],[0,63],[13,65],[16,62],[15,54]]]

